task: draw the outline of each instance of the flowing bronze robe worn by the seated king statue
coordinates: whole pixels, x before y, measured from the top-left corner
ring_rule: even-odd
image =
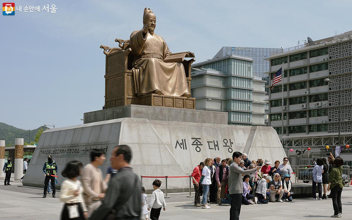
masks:
[[[135,57],[132,70],[136,94],[144,95],[157,89],[164,95],[189,93],[183,64],[163,62],[171,52],[162,37],[149,32],[143,37],[142,30],[134,31],[130,47]]]

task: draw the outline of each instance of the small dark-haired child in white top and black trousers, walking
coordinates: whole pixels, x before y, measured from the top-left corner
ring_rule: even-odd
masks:
[[[161,212],[161,208],[166,210],[166,202],[164,199],[164,193],[159,188],[161,186],[160,180],[154,180],[153,182],[153,193],[150,197],[150,202],[148,205],[148,211],[150,210],[150,219],[158,220]]]

